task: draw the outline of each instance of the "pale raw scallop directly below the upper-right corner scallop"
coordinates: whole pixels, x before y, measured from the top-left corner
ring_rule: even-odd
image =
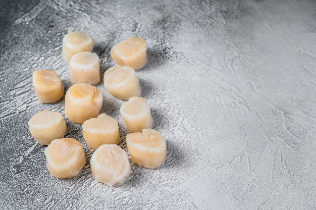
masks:
[[[122,100],[139,96],[141,87],[135,71],[128,66],[116,65],[104,73],[104,87]]]

